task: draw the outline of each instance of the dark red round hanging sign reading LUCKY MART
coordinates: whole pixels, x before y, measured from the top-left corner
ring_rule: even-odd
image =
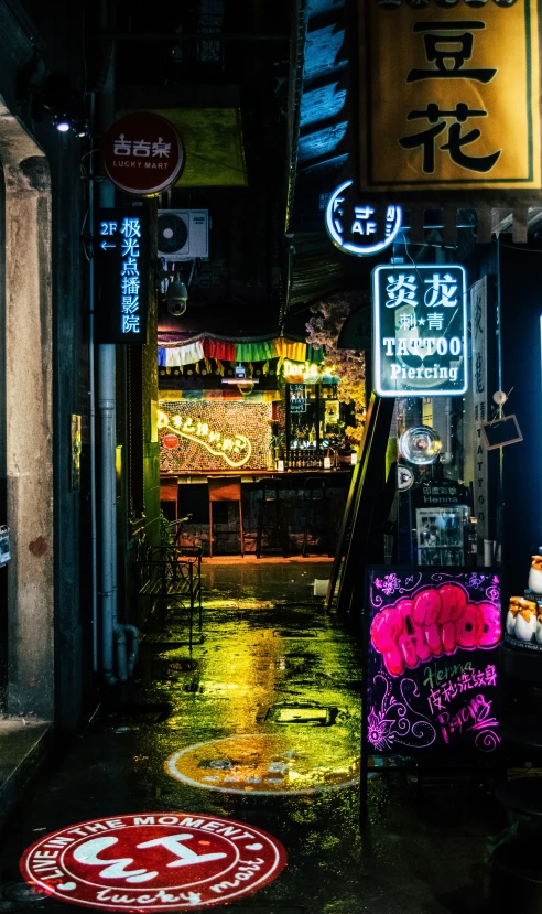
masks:
[[[140,111],[117,120],[101,141],[108,178],[137,196],[165,191],[185,163],[183,141],[169,120]]]

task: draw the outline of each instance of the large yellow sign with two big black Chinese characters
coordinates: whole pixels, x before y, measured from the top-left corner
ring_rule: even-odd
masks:
[[[359,9],[365,186],[541,186],[536,0]]]

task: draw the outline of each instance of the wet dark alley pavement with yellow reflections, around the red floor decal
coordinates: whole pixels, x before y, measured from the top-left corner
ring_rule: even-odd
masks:
[[[225,911],[487,910],[488,848],[502,821],[479,777],[427,778],[419,793],[412,775],[377,771],[361,839],[360,650],[313,596],[314,579],[329,569],[315,560],[204,563],[203,637],[192,654],[185,619],[170,614],[142,644],[131,705],[102,705],[9,824],[0,912],[66,914],[68,903],[21,882],[24,849],[77,822],[145,811],[225,817],[281,842],[285,869]]]

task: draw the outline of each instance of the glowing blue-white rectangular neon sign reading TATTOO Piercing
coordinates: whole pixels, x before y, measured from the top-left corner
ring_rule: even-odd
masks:
[[[466,391],[465,289],[458,266],[373,270],[375,388],[381,397]]]

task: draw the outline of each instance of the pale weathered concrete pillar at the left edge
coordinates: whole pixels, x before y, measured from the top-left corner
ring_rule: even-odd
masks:
[[[46,159],[0,103],[6,180],[8,711],[52,718],[53,409],[51,180]]]

